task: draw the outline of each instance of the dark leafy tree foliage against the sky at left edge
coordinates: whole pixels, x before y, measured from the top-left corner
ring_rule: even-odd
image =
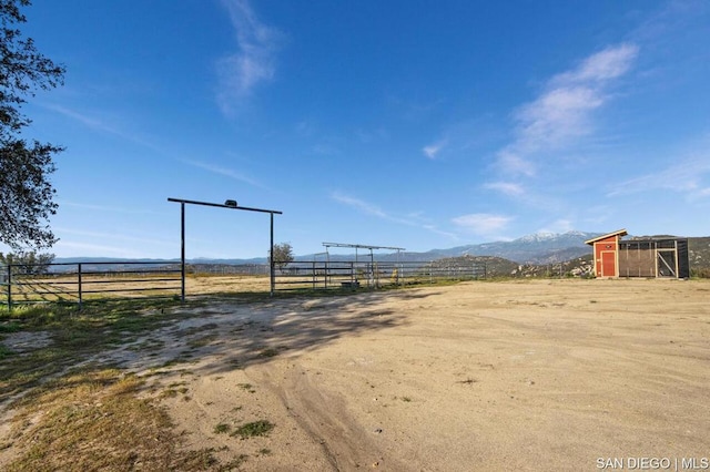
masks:
[[[29,0],[0,0],[0,243],[51,247],[57,242],[47,223],[57,213],[49,175],[52,155],[63,148],[32,140],[21,131],[31,121],[20,109],[38,89],[62,84],[64,68],[40,54],[32,39],[23,39],[18,25]]]

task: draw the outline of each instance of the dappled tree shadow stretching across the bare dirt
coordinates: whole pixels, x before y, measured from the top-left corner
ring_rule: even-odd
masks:
[[[200,308],[178,308],[175,322],[94,360],[135,372],[179,368],[203,374],[225,372],[317,349],[344,336],[403,326],[406,315],[387,306],[433,295],[403,290],[251,302],[214,300]]]

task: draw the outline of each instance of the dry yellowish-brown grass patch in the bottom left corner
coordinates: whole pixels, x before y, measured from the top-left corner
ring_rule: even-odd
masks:
[[[49,382],[21,402],[8,471],[219,470],[209,449],[185,451],[164,409],[141,398],[143,380],[115,369]],[[242,458],[244,459],[244,458]]]

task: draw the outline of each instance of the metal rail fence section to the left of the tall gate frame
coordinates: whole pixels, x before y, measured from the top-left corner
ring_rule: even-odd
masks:
[[[181,269],[166,261],[11,264],[0,266],[0,297],[17,305],[180,295]]]

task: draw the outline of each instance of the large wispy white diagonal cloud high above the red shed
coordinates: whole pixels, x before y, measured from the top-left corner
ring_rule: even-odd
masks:
[[[628,43],[610,47],[550,79],[536,100],[514,114],[515,138],[498,152],[500,166],[513,175],[532,176],[537,153],[592,133],[592,112],[609,100],[610,85],[630,70],[638,51]]]

